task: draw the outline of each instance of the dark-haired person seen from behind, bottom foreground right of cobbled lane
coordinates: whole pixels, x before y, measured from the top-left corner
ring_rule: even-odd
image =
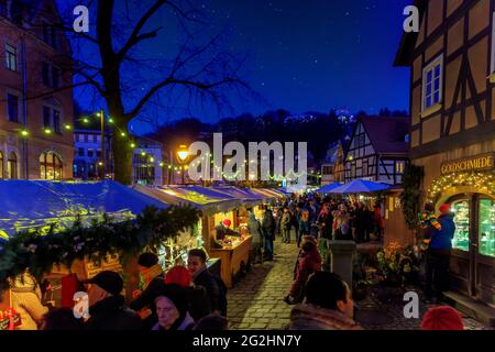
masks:
[[[334,273],[317,272],[305,287],[306,300],[290,311],[289,330],[361,330],[352,319],[351,289]]]

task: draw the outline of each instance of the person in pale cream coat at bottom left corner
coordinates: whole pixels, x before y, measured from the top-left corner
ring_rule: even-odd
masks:
[[[37,330],[48,308],[42,305],[42,292],[36,279],[25,272],[11,283],[12,309],[21,316],[16,330]]]

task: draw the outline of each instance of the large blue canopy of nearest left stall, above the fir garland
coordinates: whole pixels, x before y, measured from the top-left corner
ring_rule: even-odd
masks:
[[[113,219],[133,219],[145,207],[168,205],[112,180],[73,183],[50,180],[0,182],[0,238],[56,223],[70,227],[77,215],[85,223],[108,213]]]

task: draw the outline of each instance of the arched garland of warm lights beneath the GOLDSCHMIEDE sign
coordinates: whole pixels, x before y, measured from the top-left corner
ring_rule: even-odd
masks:
[[[458,186],[470,186],[481,191],[495,195],[495,176],[487,173],[460,173],[444,175],[431,183],[428,199],[436,201],[440,194]]]

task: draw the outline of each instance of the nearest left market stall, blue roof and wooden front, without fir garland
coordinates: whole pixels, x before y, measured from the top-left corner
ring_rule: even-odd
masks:
[[[0,182],[0,232],[3,241],[0,242],[0,249],[16,240],[16,234],[23,231],[36,231],[35,237],[45,238],[65,233],[75,223],[80,223],[80,229],[87,229],[98,221],[108,221],[109,226],[132,222],[148,206],[168,208],[165,202],[111,180],[4,180]],[[85,244],[87,243],[81,242],[74,245],[82,250]],[[32,251],[34,253],[35,248]],[[128,267],[122,267],[119,255],[107,255],[99,263],[84,256],[84,260],[75,260],[70,267],[54,265],[52,272],[46,273],[44,279],[51,284],[52,289],[46,293],[45,301],[52,301],[56,307],[72,307],[74,292],[78,288],[75,282],[91,278],[103,270],[124,273],[127,293],[138,285],[135,265],[133,267],[129,263]]]

